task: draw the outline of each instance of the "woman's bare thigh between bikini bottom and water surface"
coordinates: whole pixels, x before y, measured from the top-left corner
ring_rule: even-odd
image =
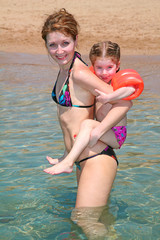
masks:
[[[98,207],[107,203],[117,172],[117,162],[110,156],[98,155],[81,163],[76,208]]]

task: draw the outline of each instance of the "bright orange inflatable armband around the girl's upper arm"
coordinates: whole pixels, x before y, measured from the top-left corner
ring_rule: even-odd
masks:
[[[112,78],[112,86],[114,91],[121,87],[133,86],[135,88],[135,92],[124,98],[124,100],[137,98],[144,89],[144,83],[141,76],[133,69],[124,69],[117,72]]]

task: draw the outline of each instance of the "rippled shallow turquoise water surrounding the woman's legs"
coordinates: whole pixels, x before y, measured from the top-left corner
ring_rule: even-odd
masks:
[[[124,56],[122,62],[122,68],[140,73],[145,90],[133,101],[126,143],[116,151],[119,170],[103,214],[111,230],[103,239],[157,240],[160,56]],[[63,153],[56,105],[50,94],[57,71],[46,56],[0,54],[3,240],[87,239],[70,220],[76,198],[75,169],[61,176],[42,171],[48,166],[46,155],[59,157]]]

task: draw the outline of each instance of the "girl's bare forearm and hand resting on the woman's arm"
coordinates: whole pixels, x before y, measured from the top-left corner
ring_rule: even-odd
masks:
[[[98,94],[98,96],[96,97],[96,100],[105,104],[108,102],[117,101],[130,96],[135,92],[135,88],[132,86],[122,87],[109,94],[99,91],[98,89],[95,89],[95,91]]]

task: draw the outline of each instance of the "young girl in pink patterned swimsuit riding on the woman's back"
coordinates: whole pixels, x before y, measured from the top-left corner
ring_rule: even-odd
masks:
[[[111,41],[94,44],[91,48],[89,57],[96,76],[111,85],[114,74],[119,71],[120,68],[120,47],[118,44],[112,43]],[[46,173],[53,175],[64,172],[71,173],[73,170],[73,164],[81,152],[87,145],[93,147],[99,139],[108,145],[107,150],[120,148],[124,143],[127,133],[126,115],[120,122],[117,122],[116,126],[112,127],[112,129],[107,132],[106,121],[108,119],[110,109],[112,108],[112,103],[130,96],[135,91],[135,88],[132,86],[123,87],[110,94],[105,94],[99,90],[95,91],[98,94],[95,108],[96,120],[87,119],[82,122],[78,135],[74,136],[75,143],[68,155],[65,153],[61,159],[52,159],[47,157],[50,164],[56,165],[45,169],[44,171]],[[85,161],[85,159],[82,161]],[[75,163],[78,167],[80,167],[80,163],[82,161]]]

